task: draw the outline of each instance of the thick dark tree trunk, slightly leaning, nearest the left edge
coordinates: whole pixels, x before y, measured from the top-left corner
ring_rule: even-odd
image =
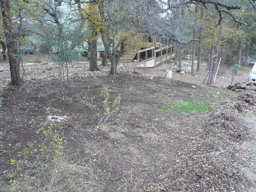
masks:
[[[13,22],[10,13],[8,0],[1,0],[1,12],[3,18],[4,34],[7,42],[7,55],[11,71],[11,85],[21,85],[20,79],[20,60],[18,59],[18,50],[15,42]]]

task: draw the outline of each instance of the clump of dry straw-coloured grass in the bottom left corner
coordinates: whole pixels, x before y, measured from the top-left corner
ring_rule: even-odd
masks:
[[[21,163],[20,170],[14,170],[12,176],[19,183],[10,185],[10,178],[6,175],[0,178],[2,192],[73,192],[73,191],[101,191],[104,183],[100,182],[90,167],[71,163],[63,154],[63,162],[48,161],[47,163]],[[22,171],[21,171],[22,170]],[[57,173],[56,171],[57,170]],[[9,170],[10,171],[10,170]],[[22,179],[17,179],[23,175]],[[25,179],[25,176],[29,176]],[[20,187],[18,188],[18,186]]]

